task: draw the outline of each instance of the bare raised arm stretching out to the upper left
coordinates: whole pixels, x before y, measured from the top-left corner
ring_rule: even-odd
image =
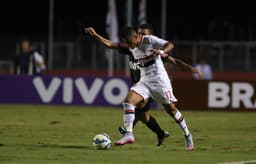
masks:
[[[108,39],[102,37],[101,35],[96,33],[96,31],[92,27],[84,28],[84,31],[86,33],[90,34],[92,37],[94,37],[98,41],[100,41],[100,43],[102,43],[103,45],[105,45],[108,48],[112,48],[112,49],[118,49],[119,48],[118,43],[113,43],[111,40],[108,40]]]

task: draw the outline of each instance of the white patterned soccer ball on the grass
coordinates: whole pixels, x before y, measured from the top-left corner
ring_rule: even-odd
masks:
[[[109,135],[105,133],[97,134],[93,137],[93,146],[99,150],[107,150],[111,146]]]

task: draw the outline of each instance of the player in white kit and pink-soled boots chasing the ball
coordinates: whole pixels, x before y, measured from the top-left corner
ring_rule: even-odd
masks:
[[[115,144],[124,145],[134,142],[135,107],[152,97],[161,103],[167,113],[179,124],[184,132],[186,150],[193,150],[192,134],[188,130],[182,114],[175,106],[177,99],[173,94],[171,82],[161,60],[161,57],[168,56],[166,53],[173,49],[173,45],[153,35],[138,35],[132,27],[123,28],[121,37],[129,45],[130,51],[140,66],[141,79],[131,87],[123,102],[124,127],[127,129],[127,133]]]

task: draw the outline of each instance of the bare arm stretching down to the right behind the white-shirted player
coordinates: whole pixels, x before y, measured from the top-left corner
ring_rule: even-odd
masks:
[[[202,73],[199,70],[197,70],[195,67],[183,62],[180,59],[168,56],[167,62],[170,64],[177,65],[177,66],[183,68],[184,70],[191,71],[192,73],[196,73],[196,74],[198,74],[198,77],[202,77]]]

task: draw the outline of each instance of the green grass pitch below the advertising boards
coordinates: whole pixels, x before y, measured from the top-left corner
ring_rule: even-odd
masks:
[[[1,164],[151,164],[256,160],[256,113],[183,111],[196,149],[184,150],[184,137],[164,110],[152,110],[161,127],[171,132],[164,145],[139,123],[134,144],[95,150],[97,133],[120,135],[122,109],[105,107],[0,105]]]

